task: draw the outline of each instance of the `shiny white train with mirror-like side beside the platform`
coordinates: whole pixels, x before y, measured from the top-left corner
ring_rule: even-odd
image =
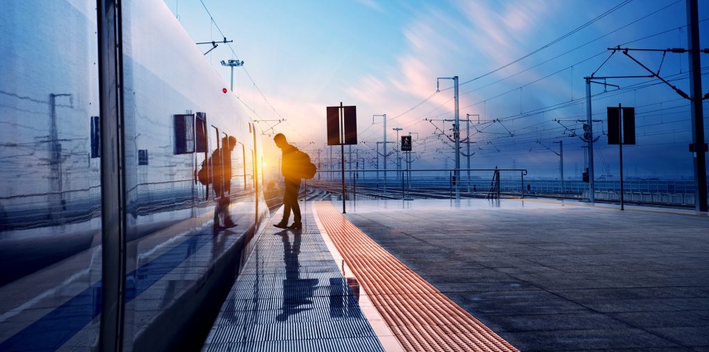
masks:
[[[0,38],[0,351],[199,350],[269,220],[257,124],[161,0],[0,1]]]

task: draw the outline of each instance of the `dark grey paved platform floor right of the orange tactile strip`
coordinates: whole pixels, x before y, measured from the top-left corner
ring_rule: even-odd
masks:
[[[705,215],[367,200],[346,217],[521,351],[709,351]]]

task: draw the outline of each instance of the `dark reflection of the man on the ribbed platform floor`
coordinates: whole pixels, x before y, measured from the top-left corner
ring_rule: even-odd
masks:
[[[305,310],[313,309],[313,293],[320,280],[316,278],[300,278],[301,263],[298,254],[301,253],[301,234],[294,232],[293,244],[288,232],[278,232],[283,238],[283,261],[286,263],[286,280],[283,280],[283,312],[276,316],[279,322],[285,322],[288,317]],[[303,307],[309,305],[310,307]]]

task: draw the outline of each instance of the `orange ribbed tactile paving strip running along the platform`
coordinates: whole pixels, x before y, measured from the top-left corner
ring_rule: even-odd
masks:
[[[406,351],[518,351],[381,248],[330,202],[320,222]]]

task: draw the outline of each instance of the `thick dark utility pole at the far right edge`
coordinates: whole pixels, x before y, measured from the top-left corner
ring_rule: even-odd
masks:
[[[702,110],[702,78],[701,62],[699,59],[699,17],[697,0],[687,0],[687,44],[689,49],[689,89],[692,102],[692,144],[694,182],[697,193],[694,198],[695,208],[700,212],[707,212],[707,169],[706,152],[707,144],[704,140],[704,118]]]

